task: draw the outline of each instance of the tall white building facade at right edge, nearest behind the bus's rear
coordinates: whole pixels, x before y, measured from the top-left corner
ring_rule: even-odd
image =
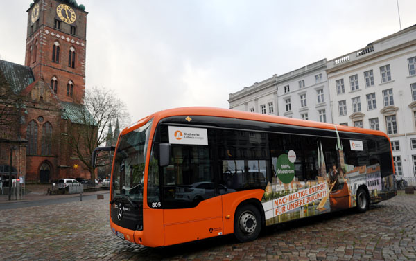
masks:
[[[415,186],[416,26],[327,62],[333,123],[390,137],[397,179]]]

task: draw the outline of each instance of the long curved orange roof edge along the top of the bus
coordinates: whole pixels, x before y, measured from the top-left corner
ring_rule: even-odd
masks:
[[[223,118],[236,118],[240,120],[254,120],[261,121],[266,123],[279,123],[284,125],[295,125],[302,127],[312,127],[317,129],[338,129],[340,132],[356,132],[361,134],[371,134],[377,136],[385,136],[388,138],[387,134],[384,132],[372,130],[372,129],[363,129],[357,127],[349,127],[345,125],[336,125],[333,123],[320,123],[313,120],[301,120],[297,118],[288,118],[275,115],[259,114],[247,111],[237,111],[233,109],[222,109],[215,107],[181,107],[175,109],[166,109],[164,111],[158,111],[150,116],[138,120],[136,123],[133,123],[129,127],[126,127],[121,132],[121,135],[124,135],[133,129],[143,125],[151,118],[154,118],[155,123],[158,123],[159,120],[163,118],[168,118],[171,116],[214,116],[214,117],[223,117]]]

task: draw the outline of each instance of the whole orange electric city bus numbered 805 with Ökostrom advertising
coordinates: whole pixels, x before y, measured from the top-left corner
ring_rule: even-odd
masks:
[[[168,246],[262,228],[397,194],[383,132],[229,109],[159,111],[123,129],[110,180],[110,225]]]

